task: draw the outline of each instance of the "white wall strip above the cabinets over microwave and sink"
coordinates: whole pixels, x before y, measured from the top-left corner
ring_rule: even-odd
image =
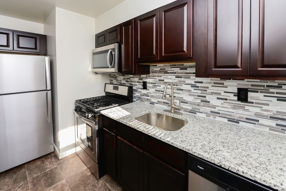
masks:
[[[95,34],[175,0],[125,0],[95,18]]]

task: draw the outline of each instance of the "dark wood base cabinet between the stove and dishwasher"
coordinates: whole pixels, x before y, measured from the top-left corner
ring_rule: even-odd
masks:
[[[128,191],[184,191],[186,152],[103,116],[106,171]]]

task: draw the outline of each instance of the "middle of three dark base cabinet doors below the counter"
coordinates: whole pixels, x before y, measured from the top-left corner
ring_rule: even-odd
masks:
[[[128,191],[143,191],[143,151],[117,137],[118,182]]]

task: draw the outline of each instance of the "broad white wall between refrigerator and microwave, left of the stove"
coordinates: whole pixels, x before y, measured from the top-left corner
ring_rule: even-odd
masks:
[[[95,48],[94,18],[55,9],[59,149],[68,155],[75,151],[74,101],[104,95],[109,75],[89,71]]]

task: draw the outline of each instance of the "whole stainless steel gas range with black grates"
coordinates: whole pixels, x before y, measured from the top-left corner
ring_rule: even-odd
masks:
[[[76,153],[96,178],[105,174],[100,111],[133,102],[132,86],[106,83],[104,91],[105,96],[76,100],[74,109]]]

